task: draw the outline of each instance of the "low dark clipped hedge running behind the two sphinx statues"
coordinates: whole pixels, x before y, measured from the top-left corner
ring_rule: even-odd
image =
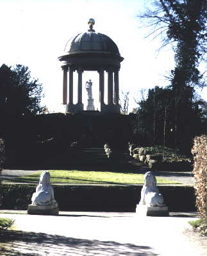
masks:
[[[60,210],[135,212],[142,185],[53,185]],[[195,192],[188,186],[158,186],[172,212],[195,211]],[[35,185],[3,184],[2,209],[26,209]]]

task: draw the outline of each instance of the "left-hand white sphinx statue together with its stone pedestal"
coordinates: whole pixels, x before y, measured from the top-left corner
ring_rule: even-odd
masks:
[[[54,200],[54,191],[49,171],[43,171],[36,192],[28,205],[28,214],[58,214],[58,203]]]

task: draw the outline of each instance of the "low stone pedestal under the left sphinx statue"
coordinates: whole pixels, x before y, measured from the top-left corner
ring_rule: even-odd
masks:
[[[34,215],[58,215],[58,204],[54,205],[28,205],[28,214]]]

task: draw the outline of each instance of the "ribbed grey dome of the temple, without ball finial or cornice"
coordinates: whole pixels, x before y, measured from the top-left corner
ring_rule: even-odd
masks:
[[[120,56],[115,42],[107,35],[95,33],[94,30],[80,33],[67,42],[65,52],[69,55],[77,53],[105,53]]]

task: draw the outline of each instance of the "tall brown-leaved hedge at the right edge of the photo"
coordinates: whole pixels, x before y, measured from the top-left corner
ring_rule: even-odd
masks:
[[[207,234],[207,136],[195,137],[192,148],[194,155],[195,195],[199,215],[202,220],[200,230]]]

